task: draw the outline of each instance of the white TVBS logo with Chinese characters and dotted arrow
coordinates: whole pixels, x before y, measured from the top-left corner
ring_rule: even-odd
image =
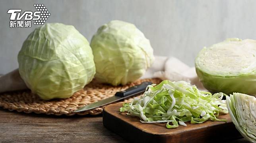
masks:
[[[35,25],[43,25],[50,16],[48,9],[44,4],[34,4],[37,11],[24,11],[22,9],[9,9],[10,13],[10,28],[31,27],[31,21]]]

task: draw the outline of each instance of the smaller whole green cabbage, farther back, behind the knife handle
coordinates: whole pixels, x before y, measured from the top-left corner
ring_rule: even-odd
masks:
[[[91,40],[95,78],[103,83],[125,85],[140,78],[154,60],[149,40],[134,24],[110,21]]]

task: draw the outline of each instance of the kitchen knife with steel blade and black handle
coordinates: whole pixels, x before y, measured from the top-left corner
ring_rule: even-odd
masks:
[[[151,85],[151,84],[152,84],[151,82],[143,82],[140,85],[130,87],[124,91],[116,92],[116,94],[110,98],[83,106],[74,112],[76,113],[76,112],[94,109],[94,108],[101,107],[103,105],[107,105],[109,103],[116,102],[116,101],[131,97],[131,96],[142,94],[143,92],[145,92],[147,85]]]

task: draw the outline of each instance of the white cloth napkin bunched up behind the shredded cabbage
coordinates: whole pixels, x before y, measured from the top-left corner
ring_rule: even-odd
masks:
[[[155,56],[153,65],[142,78],[158,77],[162,80],[186,81],[196,85],[200,90],[206,90],[200,83],[195,67],[189,67],[175,57]]]

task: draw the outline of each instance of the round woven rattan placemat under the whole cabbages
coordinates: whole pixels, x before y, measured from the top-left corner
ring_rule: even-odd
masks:
[[[93,80],[91,83],[85,86],[82,90],[74,93],[73,96],[67,99],[56,99],[44,101],[39,96],[32,94],[30,90],[23,90],[17,92],[6,92],[0,94],[0,107],[8,109],[10,111],[16,110],[18,112],[25,113],[43,113],[53,115],[98,115],[102,113],[103,107],[96,109],[73,113],[76,109],[83,107],[89,103],[97,102],[105,98],[114,96],[118,91],[125,90],[134,85],[139,85],[144,81],[151,81],[152,83],[160,83],[161,79],[140,79],[134,83],[124,86],[111,86],[103,83],[99,83]],[[128,100],[131,100],[127,99]]]

